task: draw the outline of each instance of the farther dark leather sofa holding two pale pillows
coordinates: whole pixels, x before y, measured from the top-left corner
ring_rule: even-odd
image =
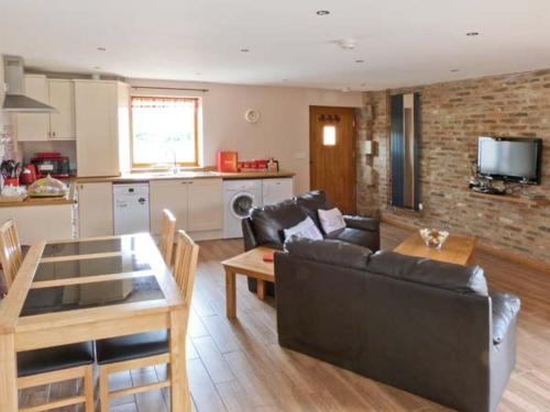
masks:
[[[326,238],[337,240],[370,248],[380,249],[380,225],[376,219],[358,215],[344,215],[346,227],[326,234],[322,231],[317,211],[333,207],[323,191],[310,191],[294,199],[264,208],[253,208],[249,218],[242,220],[244,249],[257,246],[270,246],[283,249],[285,229],[292,227],[310,216]],[[256,291],[256,280],[249,278],[249,289]],[[266,292],[273,296],[273,283],[268,283]]]

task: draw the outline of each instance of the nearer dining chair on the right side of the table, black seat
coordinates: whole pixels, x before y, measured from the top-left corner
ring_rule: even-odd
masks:
[[[184,303],[188,309],[184,324],[182,325],[184,335],[186,335],[199,246],[184,231],[177,233],[176,240],[176,264],[173,276],[180,289]],[[169,364],[168,338],[168,331],[154,331],[96,341],[101,412],[109,411],[109,401],[113,398],[172,386],[172,379],[168,375],[166,380],[160,382],[117,391],[109,390],[109,375],[111,374]]]

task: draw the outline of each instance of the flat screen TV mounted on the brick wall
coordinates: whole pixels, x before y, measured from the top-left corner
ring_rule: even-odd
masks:
[[[480,177],[526,185],[540,185],[542,140],[521,137],[480,137]]]

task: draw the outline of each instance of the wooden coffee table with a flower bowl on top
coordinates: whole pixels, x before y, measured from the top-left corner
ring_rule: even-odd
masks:
[[[413,233],[394,252],[402,255],[426,257],[450,264],[471,266],[475,260],[477,240],[470,236],[449,235],[440,250],[426,246],[418,232]]]

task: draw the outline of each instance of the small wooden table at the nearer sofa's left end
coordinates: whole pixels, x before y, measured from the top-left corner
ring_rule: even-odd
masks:
[[[264,261],[263,257],[274,250],[271,247],[260,246],[221,263],[226,269],[226,315],[228,319],[237,318],[237,275],[256,279],[257,297],[265,299],[265,282],[275,281],[275,268],[273,261]]]

